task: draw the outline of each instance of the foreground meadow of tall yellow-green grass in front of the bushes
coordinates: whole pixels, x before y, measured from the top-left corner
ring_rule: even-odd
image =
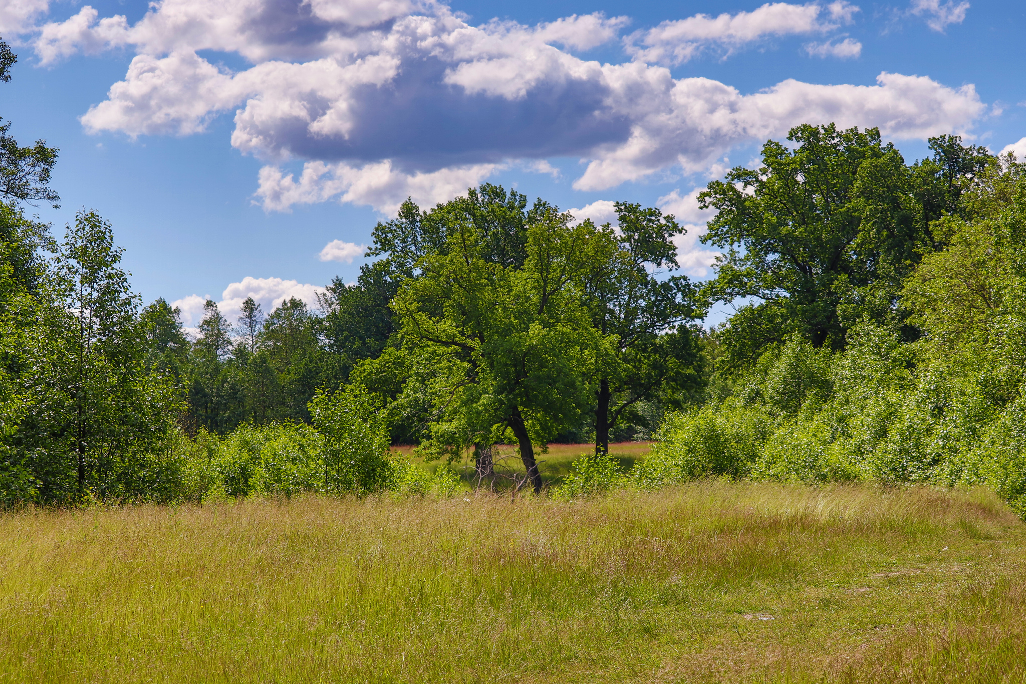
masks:
[[[0,681],[1023,682],[1024,557],[924,487],[29,510]]]

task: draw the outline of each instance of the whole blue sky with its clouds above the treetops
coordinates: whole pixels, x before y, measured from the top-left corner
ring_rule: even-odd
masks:
[[[599,223],[657,206],[709,278],[698,192],[792,126],[1026,158],[1024,32],[1021,0],[0,0],[0,116],[61,150],[33,211],[60,236],[96,210],[193,327],[207,297],[316,306],[406,197],[485,182]]]

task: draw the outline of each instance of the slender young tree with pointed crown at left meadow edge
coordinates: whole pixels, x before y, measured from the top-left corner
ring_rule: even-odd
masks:
[[[14,446],[44,500],[137,495],[161,480],[159,444],[181,408],[147,369],[139,296],[119,267],[109,224],[79,212],[52,272],[27,305]],[[158,487],[159,488],[159,487]]]

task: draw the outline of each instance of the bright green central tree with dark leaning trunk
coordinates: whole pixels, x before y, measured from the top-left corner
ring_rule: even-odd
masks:
[[[574,425],[589,404],[605,343],[582,296],[586,265],[608,232],[544,206],[525,222],[522,268],[496,263],[488,234],[450,215],[443,245],[416,261],[392,307],[404,348],[435,368],[428,388],[435,445],[456,452],[509,428],[535,491],[535,444]]]

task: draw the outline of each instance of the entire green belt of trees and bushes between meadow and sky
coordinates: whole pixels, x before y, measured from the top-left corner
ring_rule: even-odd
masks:
[[[0,80],[15,61],[0,42]],[[700,196],[716,275],[678,273],[674,216],[617,226],[483,185],[379,223],[316,308],[207,301],[194,338],[144,306],[112,227],[62,239],[57,151],[0,125],[0,498],[423,492],[472,454],[593,442],[560,488],[705,476],[983,483],[1026,511],[1026,178],[957,136],[908,164],[876,129],[803,125]],[[734,303],[704,329],[714,303]],[[658,437],[630,473],[611,441]]]

